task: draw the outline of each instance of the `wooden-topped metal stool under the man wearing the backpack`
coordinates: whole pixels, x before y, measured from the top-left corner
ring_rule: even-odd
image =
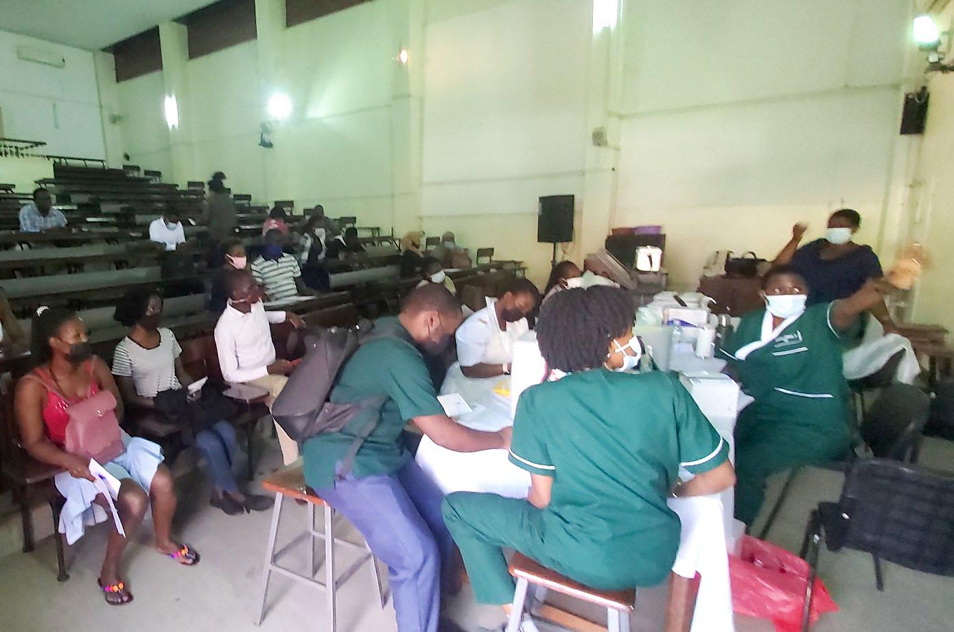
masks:
[[[268,594],[268,580],[272,571],[280,573],[285,577],[301,581],[302,583],[323,590],[327,600],[327,621],[325,628],[330,632],[336,632],[337,617],[335,597],[338,587],[351,578],[352,575],[361,567],[365,561],[370,561],[371,569],[374,571],[375,584],[378,586],[378,598],[381,606],[384,607],[384,591],[381,587],[381,576],[378,574],[378,564],[374,560],[374,555],[370,547],[365,542],[364,545],[353,544],[346,540],[338,540],[334,537],[332,519],[334,518],[334,509],[324,500],[315,496],[304,484],[304,474],[301,465],[295,465],[285,468],[262,481],[261,486],[275,492],[275,508],[272,510],[272,528],[268,534],[268,546],[265,551],[265,568],[261,574],[261,601],[259,605],[259,616],[255,621],[256,625],[261,623],[265,613],[265,599]],[[278,552],[275,551],[275,539],[279,533],[279,520],[281,516],[281,501],[285,497],[296,500],[303,500],[308,503],[308,528],[297,538],[286,544]],[[315,508],[324,508],[324,532],[315,530]],[[276,562],[285,550],[298,544],[300,540],[308,541],[308,575],[301,575],[295,571],[280,566]],[[315,580],[315,540],[324,540],[324,581]],[[335,544],[357,548],[365,551],[364,555],[349,566],[337,580],[335,579]]]

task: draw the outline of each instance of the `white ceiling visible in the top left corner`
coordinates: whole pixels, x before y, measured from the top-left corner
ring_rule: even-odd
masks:
[[[0,30],[96,51],[211,0],[0,0]]]

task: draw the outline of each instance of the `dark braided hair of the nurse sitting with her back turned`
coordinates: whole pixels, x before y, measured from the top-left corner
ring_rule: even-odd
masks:
[[[634,318],[633,298],[625,290],[594,286],[558,292],[540,310],[540,352],[551,369],[595,369],[606,360],[610,340],[626,334]]]

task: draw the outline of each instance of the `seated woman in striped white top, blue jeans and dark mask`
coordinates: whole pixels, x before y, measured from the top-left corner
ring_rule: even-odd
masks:
[[[161,296],[134,291],[116,306],[114,317],[132,328],[116,345],[113,357],[113,375],[123,400],[180,424],[183,435],[194,439],[212,479],[212,506],[229,516],[269,509],[271,498],[239,492],[234,473],[239,443],[232,424],[219,418],[221,406],[214,400],[203,402],[201,390],[188,392],[193,379],[182,365],[176,335],[159,327]]]

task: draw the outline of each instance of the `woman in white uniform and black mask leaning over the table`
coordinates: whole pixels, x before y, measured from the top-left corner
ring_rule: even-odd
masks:
[[[457,330],[457,359],[464,375],[508,375],[513,343],[529,332],[527,316],[539,303],[540,291],[526,278],[513,279],[499,298],[487,296],[487,307]]]

